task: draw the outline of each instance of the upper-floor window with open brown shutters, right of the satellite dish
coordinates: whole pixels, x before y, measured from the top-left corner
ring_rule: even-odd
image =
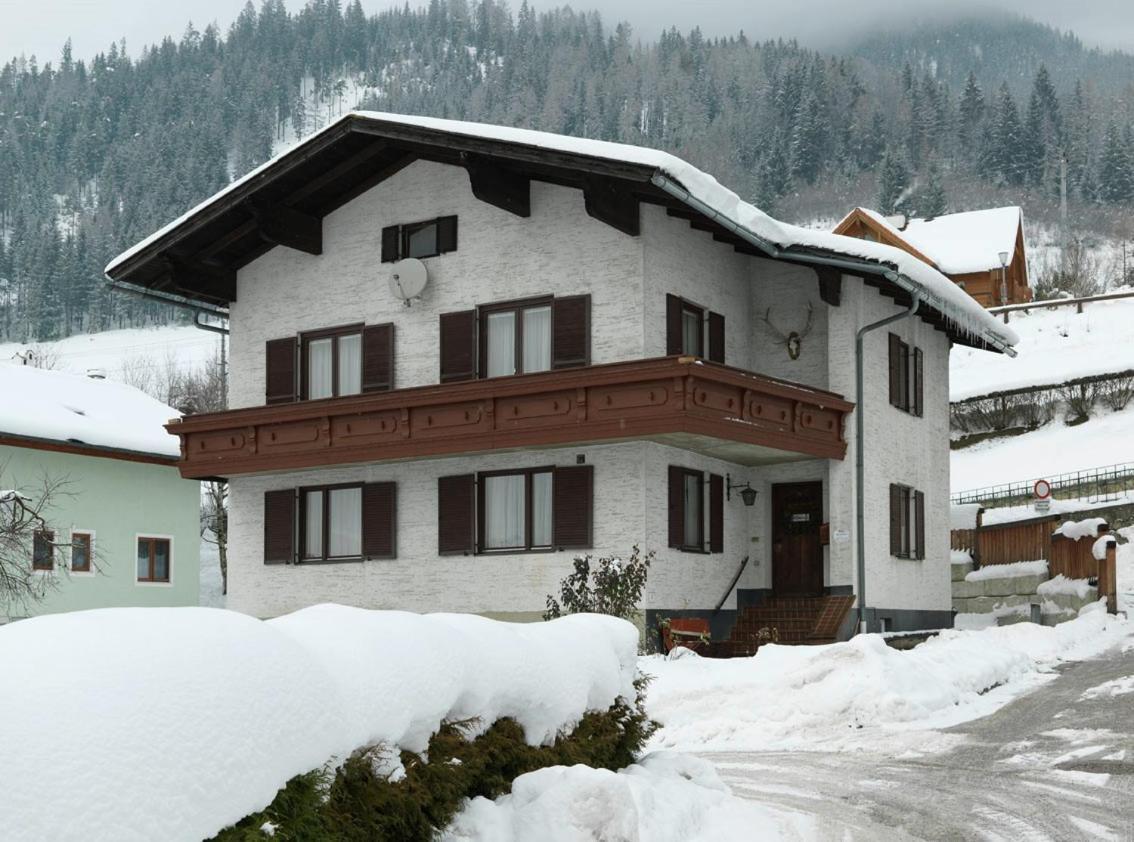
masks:
[[[441,382],[591,363],[591,296],[483,304],[440,317]]]

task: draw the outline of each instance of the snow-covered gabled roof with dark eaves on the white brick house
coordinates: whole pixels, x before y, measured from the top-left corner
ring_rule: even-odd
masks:
[[[468,170],[477,197],[527,215],[531,180],[577,187],[587,213],[637,233],[641,202],[746,254],[862,274],[958,342],[1008,350],[1010,328],[902,249],[773,220],[658,150],[430,117],[352,112],[234,181],[107,266],[112,280],[227,305],[236,270],[286,243],[319,254],[319,220],[417,159]]]

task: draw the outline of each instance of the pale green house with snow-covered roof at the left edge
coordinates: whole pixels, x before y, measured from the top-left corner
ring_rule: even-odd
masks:
[[[17,500],[35,512],[3,544],[5,563],[43,577],[42,599],[0,592],[0,622],[197,604],[200,483],[180,476],[164,428],[178,413],[93,375],[0,364],[0,517],[17,517]]]

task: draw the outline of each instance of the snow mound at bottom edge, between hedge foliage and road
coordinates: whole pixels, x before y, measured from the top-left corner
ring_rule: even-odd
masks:
[[[445,842],[716,842],[813,839],[813,823],[731,796],[709,762],[648,755],[620,772],[552,766],[515,780],[511,794],[469,801]]]

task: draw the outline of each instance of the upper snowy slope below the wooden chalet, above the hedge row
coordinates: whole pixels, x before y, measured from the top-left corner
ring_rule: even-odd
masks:
[[[1017,357],[959,346],[953,349],[951,400],[1134,368],[1134,298],[1086,304],[1082,313],[1057,307],[1013,313],[1010,318],[1019,337]]]

